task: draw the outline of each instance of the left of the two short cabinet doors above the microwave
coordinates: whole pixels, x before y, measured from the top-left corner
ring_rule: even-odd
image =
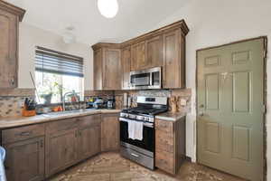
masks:
[[[145,41],[132,45],[131,56],[131,71],[143,70],[147,67],[145,59]]]

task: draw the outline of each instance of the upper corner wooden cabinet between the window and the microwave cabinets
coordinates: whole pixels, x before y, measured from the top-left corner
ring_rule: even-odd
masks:
[[[99,43],[94,49],[94,90],[121,90],[121,51]]]

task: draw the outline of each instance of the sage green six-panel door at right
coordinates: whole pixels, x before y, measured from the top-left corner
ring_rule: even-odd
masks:
[[[263,180],[265,38],[197,52],[198,162]]]

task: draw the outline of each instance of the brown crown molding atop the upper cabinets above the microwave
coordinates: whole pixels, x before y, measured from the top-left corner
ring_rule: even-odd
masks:
[[[168,24],[168,25],[165,25],[164,27],[162,28],[159,28],[157,30],[154,30],[152,32],[149,32],[149,33],[145,33],[143,35],[140,35],[140,36],[137,36],[133,39],[130,39],[124,43],[96,43],[94,45],[92,45],[92,49],[95,51],[95,50],[98,50],[99,48],[107,48],[107,47],[110,47],[110,48],[123,48],[123,47],[126,47],[128,45],[131,45],[133,43],[138,43],[138,42],[141,42],[147,38],[151,38],[153,36],[156,36],[156,35],[159,35],[159,34],[162,34],[166,31],[170,31],[170,30],[173,30],[173,29],[177,29],[177,28],[181,28],[182,30],[182,33],[184,35],[186,35],[187,33],[189,33],[189,28],[187,26],[187,24],[185,23],[185,21],[182,19],[178,22],[175,22],[173,24]]]

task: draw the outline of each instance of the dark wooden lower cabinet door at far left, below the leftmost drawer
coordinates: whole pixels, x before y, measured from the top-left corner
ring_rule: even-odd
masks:
[[[9,181],[39,181],[44,178],[44,138],[30,138],[8,144],[6,177]]]

